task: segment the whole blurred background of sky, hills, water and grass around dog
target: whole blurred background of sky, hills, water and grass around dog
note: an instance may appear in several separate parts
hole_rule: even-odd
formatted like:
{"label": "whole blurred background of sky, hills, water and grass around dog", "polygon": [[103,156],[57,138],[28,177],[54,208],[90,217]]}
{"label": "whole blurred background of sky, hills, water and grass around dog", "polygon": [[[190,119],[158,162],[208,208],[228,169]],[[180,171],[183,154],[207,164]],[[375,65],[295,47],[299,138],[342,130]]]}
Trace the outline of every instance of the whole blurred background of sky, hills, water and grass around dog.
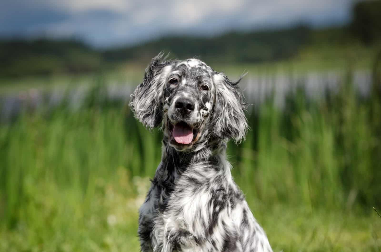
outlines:
{"label": "whole blurred background of sky, hills, water and grass around dog", "polygon": [[274,251],[381,251],[381,1],[2,0],[0,251],[139,251],[160,51],[242,81],[232,174]]}

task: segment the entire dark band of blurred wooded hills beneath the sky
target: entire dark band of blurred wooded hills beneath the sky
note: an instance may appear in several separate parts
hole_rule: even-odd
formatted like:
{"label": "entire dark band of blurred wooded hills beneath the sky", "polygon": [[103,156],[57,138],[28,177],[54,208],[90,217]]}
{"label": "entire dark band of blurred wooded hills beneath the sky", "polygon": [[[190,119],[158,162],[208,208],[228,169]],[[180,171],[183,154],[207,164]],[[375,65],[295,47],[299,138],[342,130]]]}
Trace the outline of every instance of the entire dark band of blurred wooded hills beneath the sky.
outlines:
{"label": "entire dark band of blurred wooded hills beneath the sky", "polygon": [[346,29],[340,27],[312,30],[297,26],[230,32],[211,38],[167,36],[141,45],[105,50],[95,50],[75,40],[8,40],[0,41],[0,77],[97,72],[125,62],[146,64],[163,50],[179,59],[202,56],[202,60],[211,64],[293,59],[308,48],[312,48],[309,58],[320,60],[323,54],[335,60],[341,56],[338,52],[343,45],[349,44],[349,49],[359,46],[348,36]]}

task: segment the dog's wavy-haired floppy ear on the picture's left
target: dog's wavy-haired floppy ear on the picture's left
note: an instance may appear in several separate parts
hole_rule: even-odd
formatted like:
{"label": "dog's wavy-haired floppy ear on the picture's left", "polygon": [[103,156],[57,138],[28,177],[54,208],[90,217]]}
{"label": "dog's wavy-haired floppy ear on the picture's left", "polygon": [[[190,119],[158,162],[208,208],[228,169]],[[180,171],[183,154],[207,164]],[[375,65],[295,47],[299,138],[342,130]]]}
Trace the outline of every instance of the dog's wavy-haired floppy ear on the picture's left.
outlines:
{"label": "dog's wavy-haired floppy ear on the picture's left", "polygon": [[163,92],[172,66],[163,59],[163,53],[154,57],[147,66],[144,80],[131,94],[130,107],[146,128],[157,127],[163,118]]}

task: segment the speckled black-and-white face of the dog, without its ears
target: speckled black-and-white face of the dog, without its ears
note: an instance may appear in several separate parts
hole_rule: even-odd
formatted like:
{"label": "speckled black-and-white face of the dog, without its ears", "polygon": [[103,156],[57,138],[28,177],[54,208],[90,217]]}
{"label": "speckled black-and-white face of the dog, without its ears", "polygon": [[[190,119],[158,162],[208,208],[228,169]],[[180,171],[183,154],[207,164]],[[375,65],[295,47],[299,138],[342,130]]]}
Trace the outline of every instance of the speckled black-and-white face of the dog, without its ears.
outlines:
{"label": "speckled black-and-white face of the dog, without its ears", "polygon": [[213,107],[213,70],[197,59],[171,65],[164,87],[164,134],[177,150],[192,147],[208,132]]}

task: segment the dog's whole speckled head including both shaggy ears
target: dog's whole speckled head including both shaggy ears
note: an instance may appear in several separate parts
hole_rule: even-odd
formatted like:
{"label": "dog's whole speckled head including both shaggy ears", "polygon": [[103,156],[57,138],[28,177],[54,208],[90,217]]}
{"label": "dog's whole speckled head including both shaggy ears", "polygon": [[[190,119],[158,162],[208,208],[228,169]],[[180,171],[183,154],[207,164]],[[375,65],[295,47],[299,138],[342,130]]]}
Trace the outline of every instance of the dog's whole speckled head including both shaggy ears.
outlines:
{"label": "dog's whole speckled head including both shaggy ears", "polygon": [[239,142],[248,125],[239,81],[198,59],[165,61],[159,54],[131,94],[130,106],[147,128],[163,125],[166,142],[189,150],[210,137]]}

